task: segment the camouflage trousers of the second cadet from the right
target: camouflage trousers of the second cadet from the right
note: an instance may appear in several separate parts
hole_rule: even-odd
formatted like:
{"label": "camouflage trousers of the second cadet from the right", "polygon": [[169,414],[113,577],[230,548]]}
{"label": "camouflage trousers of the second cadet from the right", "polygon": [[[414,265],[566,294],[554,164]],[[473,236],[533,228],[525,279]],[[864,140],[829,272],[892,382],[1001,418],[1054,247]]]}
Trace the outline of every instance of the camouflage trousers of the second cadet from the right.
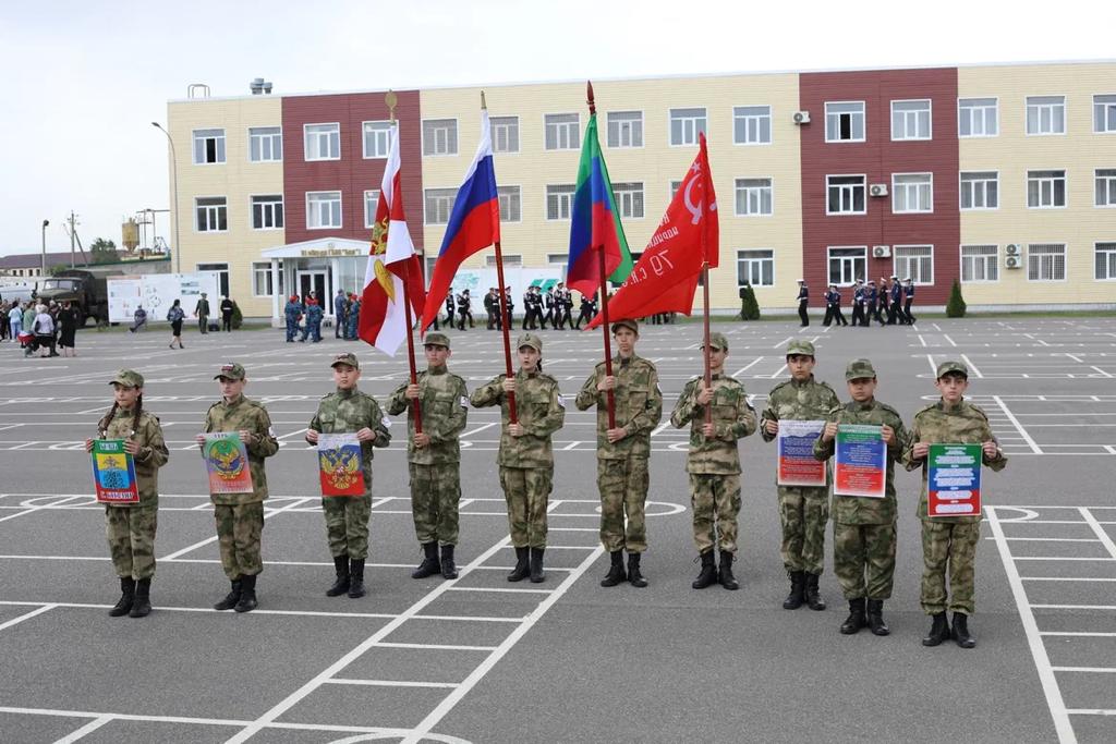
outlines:
{"label": "camouflage trousers of the second cadet from the right", "polygon": [[845,599],[889,599],[895,579],[895,524],[834,522],[834,573]]}

